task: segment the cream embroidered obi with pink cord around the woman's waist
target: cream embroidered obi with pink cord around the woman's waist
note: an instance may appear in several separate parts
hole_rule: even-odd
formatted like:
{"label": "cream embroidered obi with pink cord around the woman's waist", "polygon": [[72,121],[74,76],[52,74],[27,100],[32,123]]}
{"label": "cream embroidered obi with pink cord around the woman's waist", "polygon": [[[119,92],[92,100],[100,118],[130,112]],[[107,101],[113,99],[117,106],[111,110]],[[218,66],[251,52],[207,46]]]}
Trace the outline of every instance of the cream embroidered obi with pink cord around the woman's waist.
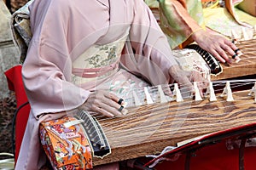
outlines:
{"label": "cream embroidered obi with pink cord around the woman's waist", "polygon": [[114,42],[92,45],[73,61],[72,80],[76,85],[94,83],[111,77],[119,71],[119,58],[128,37],[125,35]]}

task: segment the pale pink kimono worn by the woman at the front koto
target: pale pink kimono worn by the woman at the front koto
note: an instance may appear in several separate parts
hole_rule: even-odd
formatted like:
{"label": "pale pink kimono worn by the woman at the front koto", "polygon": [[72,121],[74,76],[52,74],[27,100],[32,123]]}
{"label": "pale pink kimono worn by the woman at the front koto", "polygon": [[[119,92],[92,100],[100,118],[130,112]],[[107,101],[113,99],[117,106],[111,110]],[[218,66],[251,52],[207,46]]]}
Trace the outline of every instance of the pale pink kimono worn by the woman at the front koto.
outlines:
{"label": "pale pink kimono worn by the woman at the front koto", "polygon": [[[22,75],[32,110],[16,169],[36,170],[45,163],[38,137],[39,122],[75,111],[90,91],[120,70],[125,71],[122,76],[132,75],[129,78],[136,79],[134,74],[154,85],[172,81],[168,70],[177,63],[143,0],[35,0],[30,6],[30,17],[33,37]],[[113,76],[101,81],[73,83],[76,59],[92,46],[118,41],[125,33],[121,53],[113,54],[122,69],[114,67],[117,71]],[[112,64],[115,63],[102,67]],[[96,67],[102,68],[89,69]]]}

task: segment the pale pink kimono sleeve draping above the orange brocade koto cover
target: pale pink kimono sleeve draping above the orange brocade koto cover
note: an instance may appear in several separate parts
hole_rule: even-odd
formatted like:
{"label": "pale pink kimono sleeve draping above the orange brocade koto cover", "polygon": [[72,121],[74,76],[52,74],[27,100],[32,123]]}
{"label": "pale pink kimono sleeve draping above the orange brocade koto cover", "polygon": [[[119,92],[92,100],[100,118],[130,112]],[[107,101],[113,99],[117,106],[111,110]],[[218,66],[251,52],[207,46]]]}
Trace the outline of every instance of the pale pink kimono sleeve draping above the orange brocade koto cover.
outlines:
{"label": "pale pink kimono sleeve draping above the orange brocade koto cover", "polygon": [[67,3],[57,0],[36,0],[32,3],[33,37],[22,76],[36,117],[42,113],[73,110],[82,105],[90,94],[71,82],[67,15]]}

